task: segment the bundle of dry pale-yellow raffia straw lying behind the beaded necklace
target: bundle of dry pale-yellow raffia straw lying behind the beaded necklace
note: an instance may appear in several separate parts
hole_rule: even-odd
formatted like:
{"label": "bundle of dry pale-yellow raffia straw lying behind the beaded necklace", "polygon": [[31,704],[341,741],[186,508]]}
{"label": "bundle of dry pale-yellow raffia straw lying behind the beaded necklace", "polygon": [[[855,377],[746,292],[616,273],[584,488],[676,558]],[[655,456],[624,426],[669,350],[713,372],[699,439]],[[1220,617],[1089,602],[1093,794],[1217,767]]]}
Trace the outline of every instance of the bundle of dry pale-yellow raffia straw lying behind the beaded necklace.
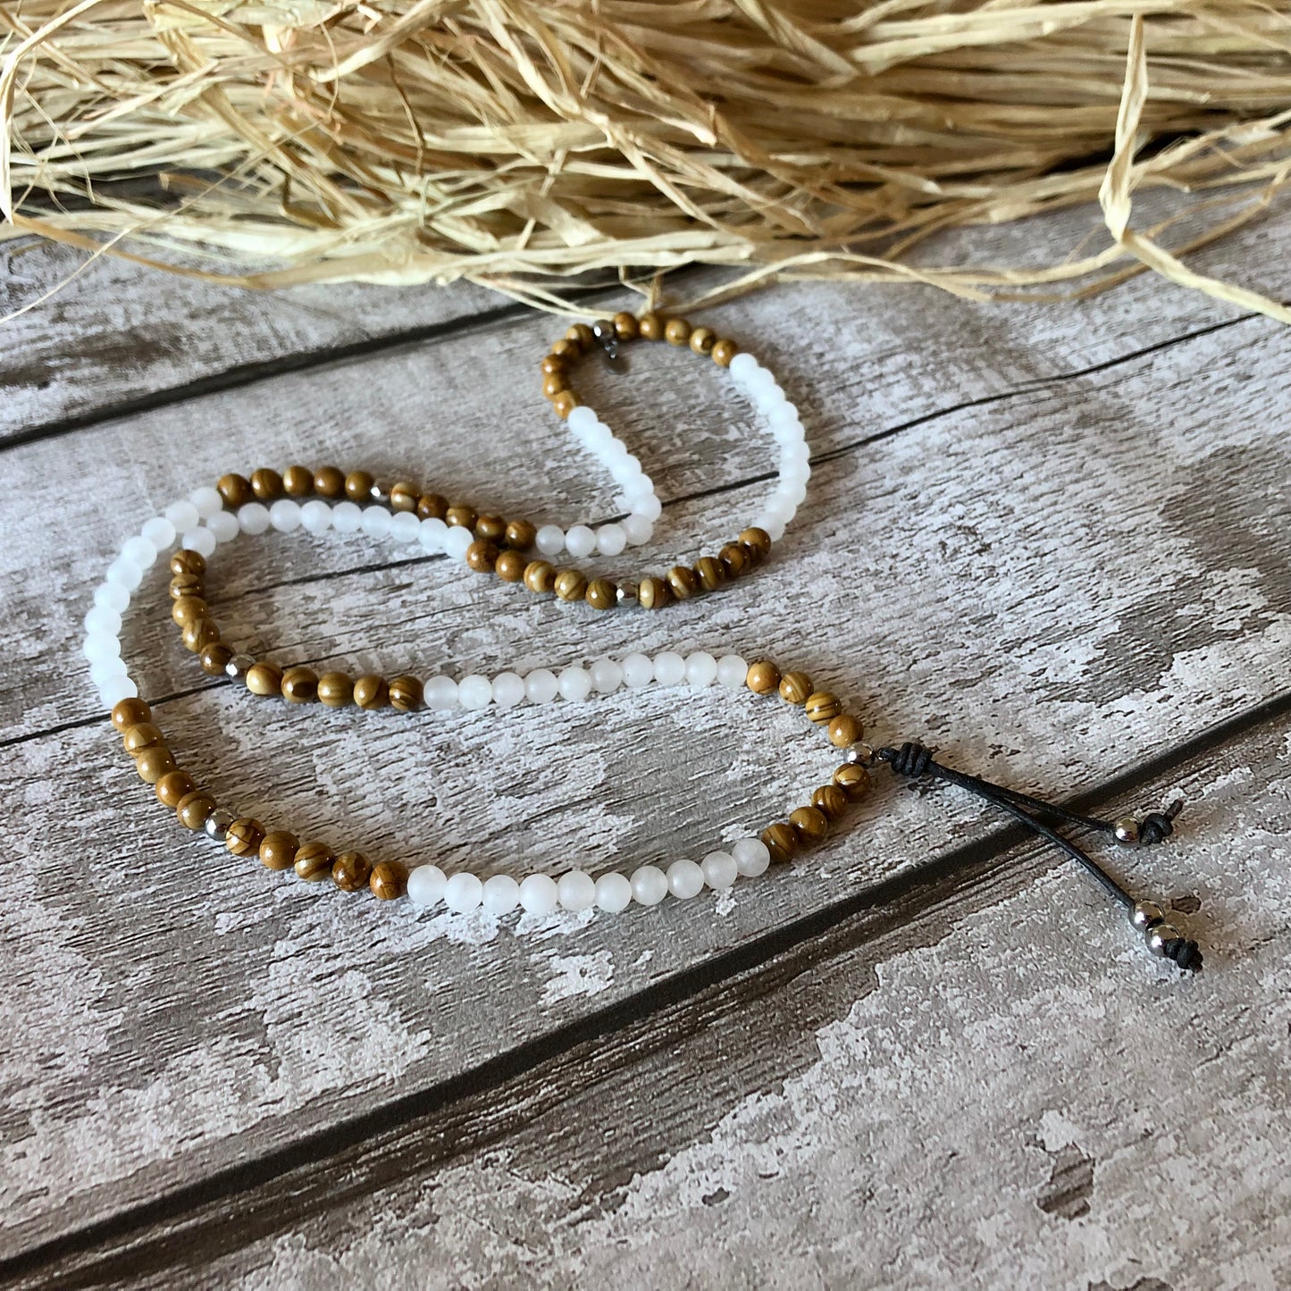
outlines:
{"label": "bundle of dry pale-yellow raffia straw lying behind the beaded necklace", "polygon": [[[736,270],[710,300],[1149,266],[1291,321],[1177,258],[1286,182],[1291,0],[14,0],[0,39],[4,236],[545,307],[695,262]],[[1176,200],[1136,229],[1145,190]],[[1110,236],[1060,263],[913,254],[1096,196]]]}

